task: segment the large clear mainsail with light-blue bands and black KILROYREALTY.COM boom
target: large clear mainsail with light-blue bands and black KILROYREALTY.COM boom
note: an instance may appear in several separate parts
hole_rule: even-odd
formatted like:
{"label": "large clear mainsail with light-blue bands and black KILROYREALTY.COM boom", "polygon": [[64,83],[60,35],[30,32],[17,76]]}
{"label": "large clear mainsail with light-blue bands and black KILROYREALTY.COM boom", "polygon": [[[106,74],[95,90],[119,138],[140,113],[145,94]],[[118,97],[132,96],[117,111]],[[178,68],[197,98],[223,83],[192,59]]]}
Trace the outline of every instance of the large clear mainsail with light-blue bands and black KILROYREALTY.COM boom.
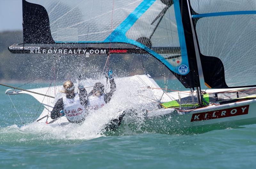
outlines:
{"label": "large clear mainsail with light-blue bands and black KILROYREALTY.COM boom", "polygon": [[200,86],[196,55],[191,26],[184,30],[186,21],[181,7],[179,0],[23,0],[24,44],[9,50],[149,54],[186,88],[194,88]]}

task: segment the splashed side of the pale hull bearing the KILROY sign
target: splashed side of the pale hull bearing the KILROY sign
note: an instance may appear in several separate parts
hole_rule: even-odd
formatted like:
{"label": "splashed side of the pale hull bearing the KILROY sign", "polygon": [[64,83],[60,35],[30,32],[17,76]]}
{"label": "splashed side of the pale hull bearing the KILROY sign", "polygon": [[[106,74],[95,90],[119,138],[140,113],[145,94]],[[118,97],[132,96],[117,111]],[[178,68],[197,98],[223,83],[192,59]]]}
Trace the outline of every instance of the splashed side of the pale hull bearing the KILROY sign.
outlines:
{"label": "splashed side of the pale hull bearing the KILROY sign", "polygon": [[213,129],[255,124],[256,99],[219,106],[213,105],[193,110],[186,114],[170,113],[170,110],[167,108],[164,109],[164,113],[162,112],[160,116],[150,114],[146,123],[146,126],[150,126],[147,130],[160,132],[162,130],[164,133],[200,133]]}

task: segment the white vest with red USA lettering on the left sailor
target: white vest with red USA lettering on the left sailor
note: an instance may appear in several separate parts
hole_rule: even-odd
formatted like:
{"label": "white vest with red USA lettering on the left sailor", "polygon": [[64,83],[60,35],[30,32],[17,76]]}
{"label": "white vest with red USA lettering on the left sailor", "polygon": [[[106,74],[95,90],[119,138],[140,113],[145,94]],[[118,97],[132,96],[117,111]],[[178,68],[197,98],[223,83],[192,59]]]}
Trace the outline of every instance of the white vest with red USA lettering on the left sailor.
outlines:
{"label": "white vest with red USA lettering on the left sailor", "polygon": [[79,95],[76,93],[73,99],[63,97],[64,113],[68,121],[76,122],[84,119],[86,110],[81,105]]}

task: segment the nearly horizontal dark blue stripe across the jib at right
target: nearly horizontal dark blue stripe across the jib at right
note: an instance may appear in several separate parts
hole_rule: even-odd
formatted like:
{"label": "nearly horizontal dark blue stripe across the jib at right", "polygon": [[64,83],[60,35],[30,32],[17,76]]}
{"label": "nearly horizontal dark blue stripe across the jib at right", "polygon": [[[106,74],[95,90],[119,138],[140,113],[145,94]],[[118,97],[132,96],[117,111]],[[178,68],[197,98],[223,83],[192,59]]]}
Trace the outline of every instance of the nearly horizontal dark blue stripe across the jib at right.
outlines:
{"label": "nearly horizontal dark blue stripe across the jib at right", "polygon": [[248,15],[248,14],[256,14],[256,11],[230,11],[230,12],[203,13],[203,14],[192,15],[192,18],[215,17],[215,16],[225,16],[225,15]]}

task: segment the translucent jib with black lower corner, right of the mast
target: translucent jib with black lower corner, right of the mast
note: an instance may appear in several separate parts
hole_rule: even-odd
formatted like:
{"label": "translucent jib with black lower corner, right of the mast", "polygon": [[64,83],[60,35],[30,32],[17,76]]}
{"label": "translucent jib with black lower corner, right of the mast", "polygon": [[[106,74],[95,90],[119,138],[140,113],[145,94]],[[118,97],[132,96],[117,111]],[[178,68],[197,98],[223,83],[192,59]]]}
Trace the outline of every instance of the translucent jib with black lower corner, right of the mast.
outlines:
{"label": "translucent jib with black lower corner, right of the mast", "polygon": [[256,86],[256,1],[187,2],[205,85],[211,88]]}

